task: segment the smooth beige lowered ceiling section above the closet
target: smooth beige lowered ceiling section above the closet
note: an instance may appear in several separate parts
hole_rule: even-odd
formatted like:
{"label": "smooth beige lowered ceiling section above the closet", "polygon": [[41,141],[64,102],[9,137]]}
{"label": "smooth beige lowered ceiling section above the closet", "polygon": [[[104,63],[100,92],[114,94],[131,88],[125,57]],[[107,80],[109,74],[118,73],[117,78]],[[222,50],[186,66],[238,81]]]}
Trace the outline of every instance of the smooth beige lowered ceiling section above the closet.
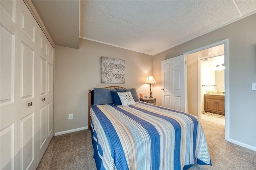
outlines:
{"label": "smooth beige lowered ceiling section above the closet", "polygon": [[31,0],[55,45],[79,48],[79,0]]}

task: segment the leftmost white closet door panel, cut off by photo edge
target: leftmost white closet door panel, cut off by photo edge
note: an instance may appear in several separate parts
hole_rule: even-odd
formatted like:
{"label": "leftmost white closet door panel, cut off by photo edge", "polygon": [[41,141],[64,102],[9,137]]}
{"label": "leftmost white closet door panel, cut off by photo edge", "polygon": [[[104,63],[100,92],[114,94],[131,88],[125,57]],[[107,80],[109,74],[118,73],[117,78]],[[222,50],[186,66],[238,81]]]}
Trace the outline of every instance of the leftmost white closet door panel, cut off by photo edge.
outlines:
{"label": "leftmost white closet door panel, cut off by photo edge", "polygon": [[0,1],[0,169],[17,169],[18,28],[16,2]]}

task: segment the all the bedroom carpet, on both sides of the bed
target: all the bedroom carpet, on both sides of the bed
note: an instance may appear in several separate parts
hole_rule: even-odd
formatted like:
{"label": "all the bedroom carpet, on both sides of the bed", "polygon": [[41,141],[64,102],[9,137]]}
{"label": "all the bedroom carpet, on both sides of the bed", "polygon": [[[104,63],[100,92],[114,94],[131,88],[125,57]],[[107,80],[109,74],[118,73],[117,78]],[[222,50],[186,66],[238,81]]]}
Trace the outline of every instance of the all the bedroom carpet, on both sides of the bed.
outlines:
{"label": "all the bedroom carpet, on both sides of the bed", "polygon": [[[212,166],[189,170],[256,170],[256,152],[225,141],[224,125],[200,119]],[[53,137],[37,170],[96,170],[89,130]]]}

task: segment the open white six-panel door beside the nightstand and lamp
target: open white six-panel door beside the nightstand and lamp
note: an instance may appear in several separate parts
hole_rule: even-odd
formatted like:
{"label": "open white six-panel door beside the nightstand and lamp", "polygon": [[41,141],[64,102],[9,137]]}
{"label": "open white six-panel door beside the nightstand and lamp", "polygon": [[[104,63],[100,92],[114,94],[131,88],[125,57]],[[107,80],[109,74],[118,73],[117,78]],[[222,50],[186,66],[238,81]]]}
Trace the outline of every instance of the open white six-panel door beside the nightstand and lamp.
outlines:
{"label": "open white six-panel door beside the nightstand and lamp", "polygon": [[185,111],[184,55],[162,61],[162,106]]}

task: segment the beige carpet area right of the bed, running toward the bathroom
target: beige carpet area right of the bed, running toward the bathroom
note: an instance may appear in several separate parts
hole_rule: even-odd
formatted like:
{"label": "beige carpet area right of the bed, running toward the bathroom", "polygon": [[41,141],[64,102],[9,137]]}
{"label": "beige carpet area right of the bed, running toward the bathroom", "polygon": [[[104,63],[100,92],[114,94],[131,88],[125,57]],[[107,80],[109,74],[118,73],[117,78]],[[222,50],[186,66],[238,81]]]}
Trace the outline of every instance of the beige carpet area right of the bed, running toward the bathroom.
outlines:
{"label": "beige carpet area right of the bed, running toward the bathroom", "polygon": [[225,126],[200,119],[212,166],[193,165],[189,170],[256,170],[256,152],[225,140]]}

